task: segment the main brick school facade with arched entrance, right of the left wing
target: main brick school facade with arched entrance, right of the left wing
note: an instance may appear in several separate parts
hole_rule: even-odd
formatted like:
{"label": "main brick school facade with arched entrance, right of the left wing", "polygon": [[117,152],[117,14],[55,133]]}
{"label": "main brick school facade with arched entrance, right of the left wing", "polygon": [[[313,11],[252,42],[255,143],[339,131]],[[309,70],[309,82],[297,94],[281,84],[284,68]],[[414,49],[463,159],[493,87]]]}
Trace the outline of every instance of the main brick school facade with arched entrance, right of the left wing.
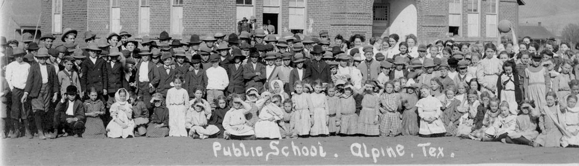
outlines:
{"label": "main brick school facade with arched entrance, right of the left wing", "polygon": [[[50,1],[50,0],[43,0]],[[70,0],[63,0],[70,1]],[[85,0],[86,27],[101,37],[119,31],[173,38],[236,31],[237,21],[255,16],[277,32],[317,35],[416,34],[420,43],[453,38],[496,41],[497,23],[509,20],[517,30],[522,0]],[[291,23],[291,24],[290,24]],[[510,34],[504,34],[510,35]]]}

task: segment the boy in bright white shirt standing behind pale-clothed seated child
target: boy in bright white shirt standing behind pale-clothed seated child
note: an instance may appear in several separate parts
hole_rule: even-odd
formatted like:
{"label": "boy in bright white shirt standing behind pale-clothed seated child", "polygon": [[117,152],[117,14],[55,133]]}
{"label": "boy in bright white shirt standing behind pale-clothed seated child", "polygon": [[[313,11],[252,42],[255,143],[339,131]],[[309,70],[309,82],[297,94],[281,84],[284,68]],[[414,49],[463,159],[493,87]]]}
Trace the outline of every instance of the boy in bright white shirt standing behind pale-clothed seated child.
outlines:
{"label": "boy in bright white shirt standing behind pale-clothed seated child", "polygon": [[229,77],[225,68],[219,66],[219,55],[213,53],[210,56],[212,66],[207,68],[207,101],[211,104],[211,110],[215,109],[215,99],[223,95],[223,91],[229,85]]}

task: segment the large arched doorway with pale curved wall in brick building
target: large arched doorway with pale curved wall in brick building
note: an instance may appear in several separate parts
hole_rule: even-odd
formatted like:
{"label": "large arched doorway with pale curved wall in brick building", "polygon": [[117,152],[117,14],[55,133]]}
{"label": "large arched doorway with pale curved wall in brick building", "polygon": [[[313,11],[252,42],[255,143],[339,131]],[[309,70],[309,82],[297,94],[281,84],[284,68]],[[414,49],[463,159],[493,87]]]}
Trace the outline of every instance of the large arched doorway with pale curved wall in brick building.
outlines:
{"label": "large arched doorway with pale curved wall in brick building", "polygon": [[416,34],[418,15],[415,0],[375,0],[372,7],[372,36]]}

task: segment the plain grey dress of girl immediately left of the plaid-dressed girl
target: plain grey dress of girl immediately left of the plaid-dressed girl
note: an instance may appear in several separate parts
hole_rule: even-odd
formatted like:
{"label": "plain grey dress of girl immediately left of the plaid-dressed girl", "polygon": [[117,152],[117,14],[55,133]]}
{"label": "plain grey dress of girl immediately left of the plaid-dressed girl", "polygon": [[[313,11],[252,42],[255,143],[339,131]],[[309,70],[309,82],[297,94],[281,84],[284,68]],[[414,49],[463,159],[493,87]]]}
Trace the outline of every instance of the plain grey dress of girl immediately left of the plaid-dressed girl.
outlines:
{"label": "plain grey dress of girl immediately left of the plaid-dressed girl", "polygon": [[380,135],[378,125],[374,124],[376,116],[380,114],[378,109],[379,103],[380,100],[378,96],[373,94],[364,95],[360,118],[358,118],[358,133],[364,135]]}

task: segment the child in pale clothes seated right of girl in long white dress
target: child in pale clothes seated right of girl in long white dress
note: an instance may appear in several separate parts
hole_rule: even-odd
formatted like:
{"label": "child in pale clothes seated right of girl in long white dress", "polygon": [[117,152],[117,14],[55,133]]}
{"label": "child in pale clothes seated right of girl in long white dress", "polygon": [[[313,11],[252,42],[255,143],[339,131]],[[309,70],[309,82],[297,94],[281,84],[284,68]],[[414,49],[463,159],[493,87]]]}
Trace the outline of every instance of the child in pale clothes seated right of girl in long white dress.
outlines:
{"label": "child in pale clothes seated right of girl in long white dress", "polygon": [[203,102],[196,99],[187,110],[185,128],[189,129],[189,136],[192,138],[206,139],[219,132],[217,126],[207,124],[207,120],[211,117],[211,107],[209,103]]}

